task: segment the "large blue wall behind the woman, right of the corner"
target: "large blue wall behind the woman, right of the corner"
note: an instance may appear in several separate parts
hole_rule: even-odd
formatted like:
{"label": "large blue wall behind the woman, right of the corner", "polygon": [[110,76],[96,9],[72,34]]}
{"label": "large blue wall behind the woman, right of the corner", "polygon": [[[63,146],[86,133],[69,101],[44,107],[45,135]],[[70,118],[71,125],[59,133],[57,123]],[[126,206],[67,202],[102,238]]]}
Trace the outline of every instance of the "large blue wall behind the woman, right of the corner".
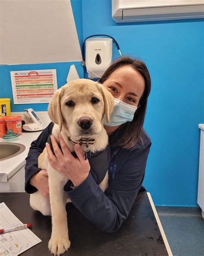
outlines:
{"label": "large blue wall behind the woman, right of the corner", "polygon": [[204,20],[116,24],[111,0],[83,0],[82,14],[83,38],[111,35],[122,54],[141,58],[150,71],[152,90],[144,128],[152,146],[144,186],[156,205],[197,206]]}

